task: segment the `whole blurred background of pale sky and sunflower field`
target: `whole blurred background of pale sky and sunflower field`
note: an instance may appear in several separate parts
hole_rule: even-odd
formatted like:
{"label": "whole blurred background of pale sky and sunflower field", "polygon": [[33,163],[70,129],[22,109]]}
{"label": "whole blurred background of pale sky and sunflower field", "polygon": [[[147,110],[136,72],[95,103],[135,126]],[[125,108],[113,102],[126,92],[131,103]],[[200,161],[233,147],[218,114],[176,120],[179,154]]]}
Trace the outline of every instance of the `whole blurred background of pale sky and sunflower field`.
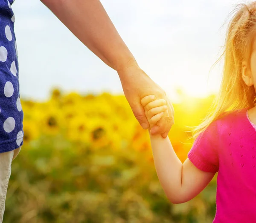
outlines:
{"label": "whole blurred background of pale sky and sunflower field", "polygon": [[[193,143],[188,126],[203,120],[218,92],[222,61],[211,66],[227,15],[244,1],[101,2],[140,67],[172,100],[169,138],[184,162]],[[15,0],[12,9],[24,142],[12,163],[4,222],[212,222],[217,174],[194,199],[171,204],[116,71],[39,0]]]}

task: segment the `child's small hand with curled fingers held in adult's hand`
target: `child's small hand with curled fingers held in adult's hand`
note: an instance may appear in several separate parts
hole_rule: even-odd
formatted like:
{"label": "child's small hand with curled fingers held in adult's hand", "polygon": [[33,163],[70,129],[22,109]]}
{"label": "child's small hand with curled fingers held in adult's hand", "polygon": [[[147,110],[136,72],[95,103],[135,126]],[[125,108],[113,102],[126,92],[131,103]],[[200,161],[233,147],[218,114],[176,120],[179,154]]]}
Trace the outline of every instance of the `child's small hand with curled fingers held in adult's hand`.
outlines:
{"label": "child's small hand with curled fingers held in adult's hand", "polygon": [[164,111],[167,110],[166,100],[155,98],[154,95],[148,95],[141,100],[150,129],[161,119]]}

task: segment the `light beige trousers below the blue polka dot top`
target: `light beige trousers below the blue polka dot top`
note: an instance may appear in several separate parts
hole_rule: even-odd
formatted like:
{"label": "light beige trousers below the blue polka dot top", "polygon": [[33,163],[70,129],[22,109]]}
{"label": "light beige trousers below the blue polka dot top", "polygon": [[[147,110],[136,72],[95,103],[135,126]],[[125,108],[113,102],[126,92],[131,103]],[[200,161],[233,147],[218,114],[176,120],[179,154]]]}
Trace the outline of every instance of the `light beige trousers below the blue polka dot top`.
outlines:
{"label": "light beige trousers below the blue polka dot top", "polygon": [[3,222],[6,192],[12,171],[12,160],[19,154],[21,146],[9,152],[0,153],[0,223]]}

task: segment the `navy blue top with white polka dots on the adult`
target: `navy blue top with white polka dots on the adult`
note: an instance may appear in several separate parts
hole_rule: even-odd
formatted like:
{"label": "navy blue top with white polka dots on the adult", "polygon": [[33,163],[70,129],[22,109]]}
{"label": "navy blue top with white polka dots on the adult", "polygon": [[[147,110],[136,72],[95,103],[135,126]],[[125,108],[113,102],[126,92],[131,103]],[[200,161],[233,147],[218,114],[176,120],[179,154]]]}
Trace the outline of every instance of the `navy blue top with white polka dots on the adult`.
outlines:
{"label": "navy blue top with white polka dots on the adult", "polygon": [[0,0],[0,153],[23,145],[14,0]]}

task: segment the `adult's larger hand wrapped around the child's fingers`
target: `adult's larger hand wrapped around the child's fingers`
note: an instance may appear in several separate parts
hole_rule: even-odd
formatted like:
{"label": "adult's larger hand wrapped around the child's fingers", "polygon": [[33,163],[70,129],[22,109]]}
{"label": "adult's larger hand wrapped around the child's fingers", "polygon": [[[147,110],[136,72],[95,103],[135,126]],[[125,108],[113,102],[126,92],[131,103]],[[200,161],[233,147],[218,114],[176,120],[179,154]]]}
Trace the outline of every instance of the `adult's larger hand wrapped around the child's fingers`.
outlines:
{"label": "adult's larger hand wrapped around the child's fingers", "polygon": [[147,95],[154,94],[157,99],[162,98],[166,100],[168,110],[150,131],[152,135],[160,133],[162,137],[166,138],[174,124],[174,108],[165,91],[140,69],[135,60],[129,61],[129,64],[122,69],[118,69],[117,72],[125,97],[143,129],[148,129],[149,123],[145,117],[143,106],[140,103],[141,99]]}

